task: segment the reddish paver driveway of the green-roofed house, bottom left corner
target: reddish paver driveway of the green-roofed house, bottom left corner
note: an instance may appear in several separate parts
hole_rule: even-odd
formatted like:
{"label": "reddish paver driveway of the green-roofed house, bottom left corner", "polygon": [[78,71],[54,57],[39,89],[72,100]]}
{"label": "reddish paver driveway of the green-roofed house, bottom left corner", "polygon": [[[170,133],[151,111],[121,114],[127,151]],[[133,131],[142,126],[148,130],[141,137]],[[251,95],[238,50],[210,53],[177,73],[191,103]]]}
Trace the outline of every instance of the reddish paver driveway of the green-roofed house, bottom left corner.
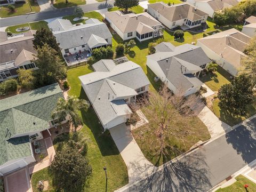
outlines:
{"label": "reddish paver driveway of the green-roofed house, bottom left corner", "polygon": [[28,167],[4,176],[5,192],[32,192]]}

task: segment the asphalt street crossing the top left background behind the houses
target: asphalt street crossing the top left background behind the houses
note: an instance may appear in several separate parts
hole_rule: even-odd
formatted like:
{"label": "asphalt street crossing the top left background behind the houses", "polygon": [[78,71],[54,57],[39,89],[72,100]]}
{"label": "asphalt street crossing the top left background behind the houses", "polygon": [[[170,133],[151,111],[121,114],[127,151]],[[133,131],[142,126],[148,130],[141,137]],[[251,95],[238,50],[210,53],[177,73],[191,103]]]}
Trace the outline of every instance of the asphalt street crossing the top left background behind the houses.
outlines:
{"label": "asphalt street crossing the top left background behind the houses", "polygon": [[[85,5],[81,5],[79,7],[81,7],[84,12],[89,12],[89,11],[105,9],[105,8],[113,7],[113,6],[114,6],[114,0],[105,1],[105,2],[101,2],[101,3],[85,4]],[[1,18],[0,19],[0,27],[13,26],[13,25],[21,24],[21,23],[63,17],[66,15],[73,15],[74,10],[75,10],[75,7],[68,7],[68,8],[63,8],[63,9],[57,9],[54,11],[46,11],[46,12],[32,13],[32,14],[26,14],[26,15],[19,15],[19,16],[9,17],[9,18]]]}

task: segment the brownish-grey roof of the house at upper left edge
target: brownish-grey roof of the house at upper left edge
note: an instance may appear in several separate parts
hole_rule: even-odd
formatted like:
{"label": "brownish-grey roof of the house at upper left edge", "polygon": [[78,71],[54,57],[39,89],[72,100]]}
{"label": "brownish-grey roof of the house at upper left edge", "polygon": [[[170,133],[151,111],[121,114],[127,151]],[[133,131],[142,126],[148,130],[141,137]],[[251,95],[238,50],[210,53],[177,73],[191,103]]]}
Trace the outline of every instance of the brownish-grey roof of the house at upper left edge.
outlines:
{"label": "brownish-grey roof of the house at upper left edge", "polygon": [[33,47],[33,33],[27,32],[0,43],[0,63],[14,61],[22,50],[36,54]]}

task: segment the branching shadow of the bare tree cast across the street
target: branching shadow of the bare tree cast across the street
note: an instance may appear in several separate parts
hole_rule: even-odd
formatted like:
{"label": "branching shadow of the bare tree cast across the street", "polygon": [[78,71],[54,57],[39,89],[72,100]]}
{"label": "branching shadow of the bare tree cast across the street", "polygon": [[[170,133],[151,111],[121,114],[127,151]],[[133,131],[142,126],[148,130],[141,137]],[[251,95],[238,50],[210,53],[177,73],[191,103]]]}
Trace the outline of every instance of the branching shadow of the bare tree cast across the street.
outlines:
{"label": "branching shadow of the bare tree cast across the street", "polygon": [[[148,167],[136,166],[135,169],[147,174]],[[211,172],[205,156],[198,151],[174,163],[166,163],[163,169],[156,167],[154,171],[154,174],[147,174],[146,179],[132,186],[129,191],[207,191],[212,188],[209,180]]]}

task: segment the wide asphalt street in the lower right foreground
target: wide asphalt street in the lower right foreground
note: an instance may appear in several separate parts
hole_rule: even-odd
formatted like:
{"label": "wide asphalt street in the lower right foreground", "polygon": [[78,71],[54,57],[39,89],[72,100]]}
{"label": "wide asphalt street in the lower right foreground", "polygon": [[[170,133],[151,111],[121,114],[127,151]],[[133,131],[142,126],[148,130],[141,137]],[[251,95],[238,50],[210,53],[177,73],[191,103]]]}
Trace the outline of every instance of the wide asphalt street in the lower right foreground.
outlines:
{"label": "wide asphalt street in the lower right foreground", "polygon": [[205,192],[254,159],[256,117],[124,191]]}

